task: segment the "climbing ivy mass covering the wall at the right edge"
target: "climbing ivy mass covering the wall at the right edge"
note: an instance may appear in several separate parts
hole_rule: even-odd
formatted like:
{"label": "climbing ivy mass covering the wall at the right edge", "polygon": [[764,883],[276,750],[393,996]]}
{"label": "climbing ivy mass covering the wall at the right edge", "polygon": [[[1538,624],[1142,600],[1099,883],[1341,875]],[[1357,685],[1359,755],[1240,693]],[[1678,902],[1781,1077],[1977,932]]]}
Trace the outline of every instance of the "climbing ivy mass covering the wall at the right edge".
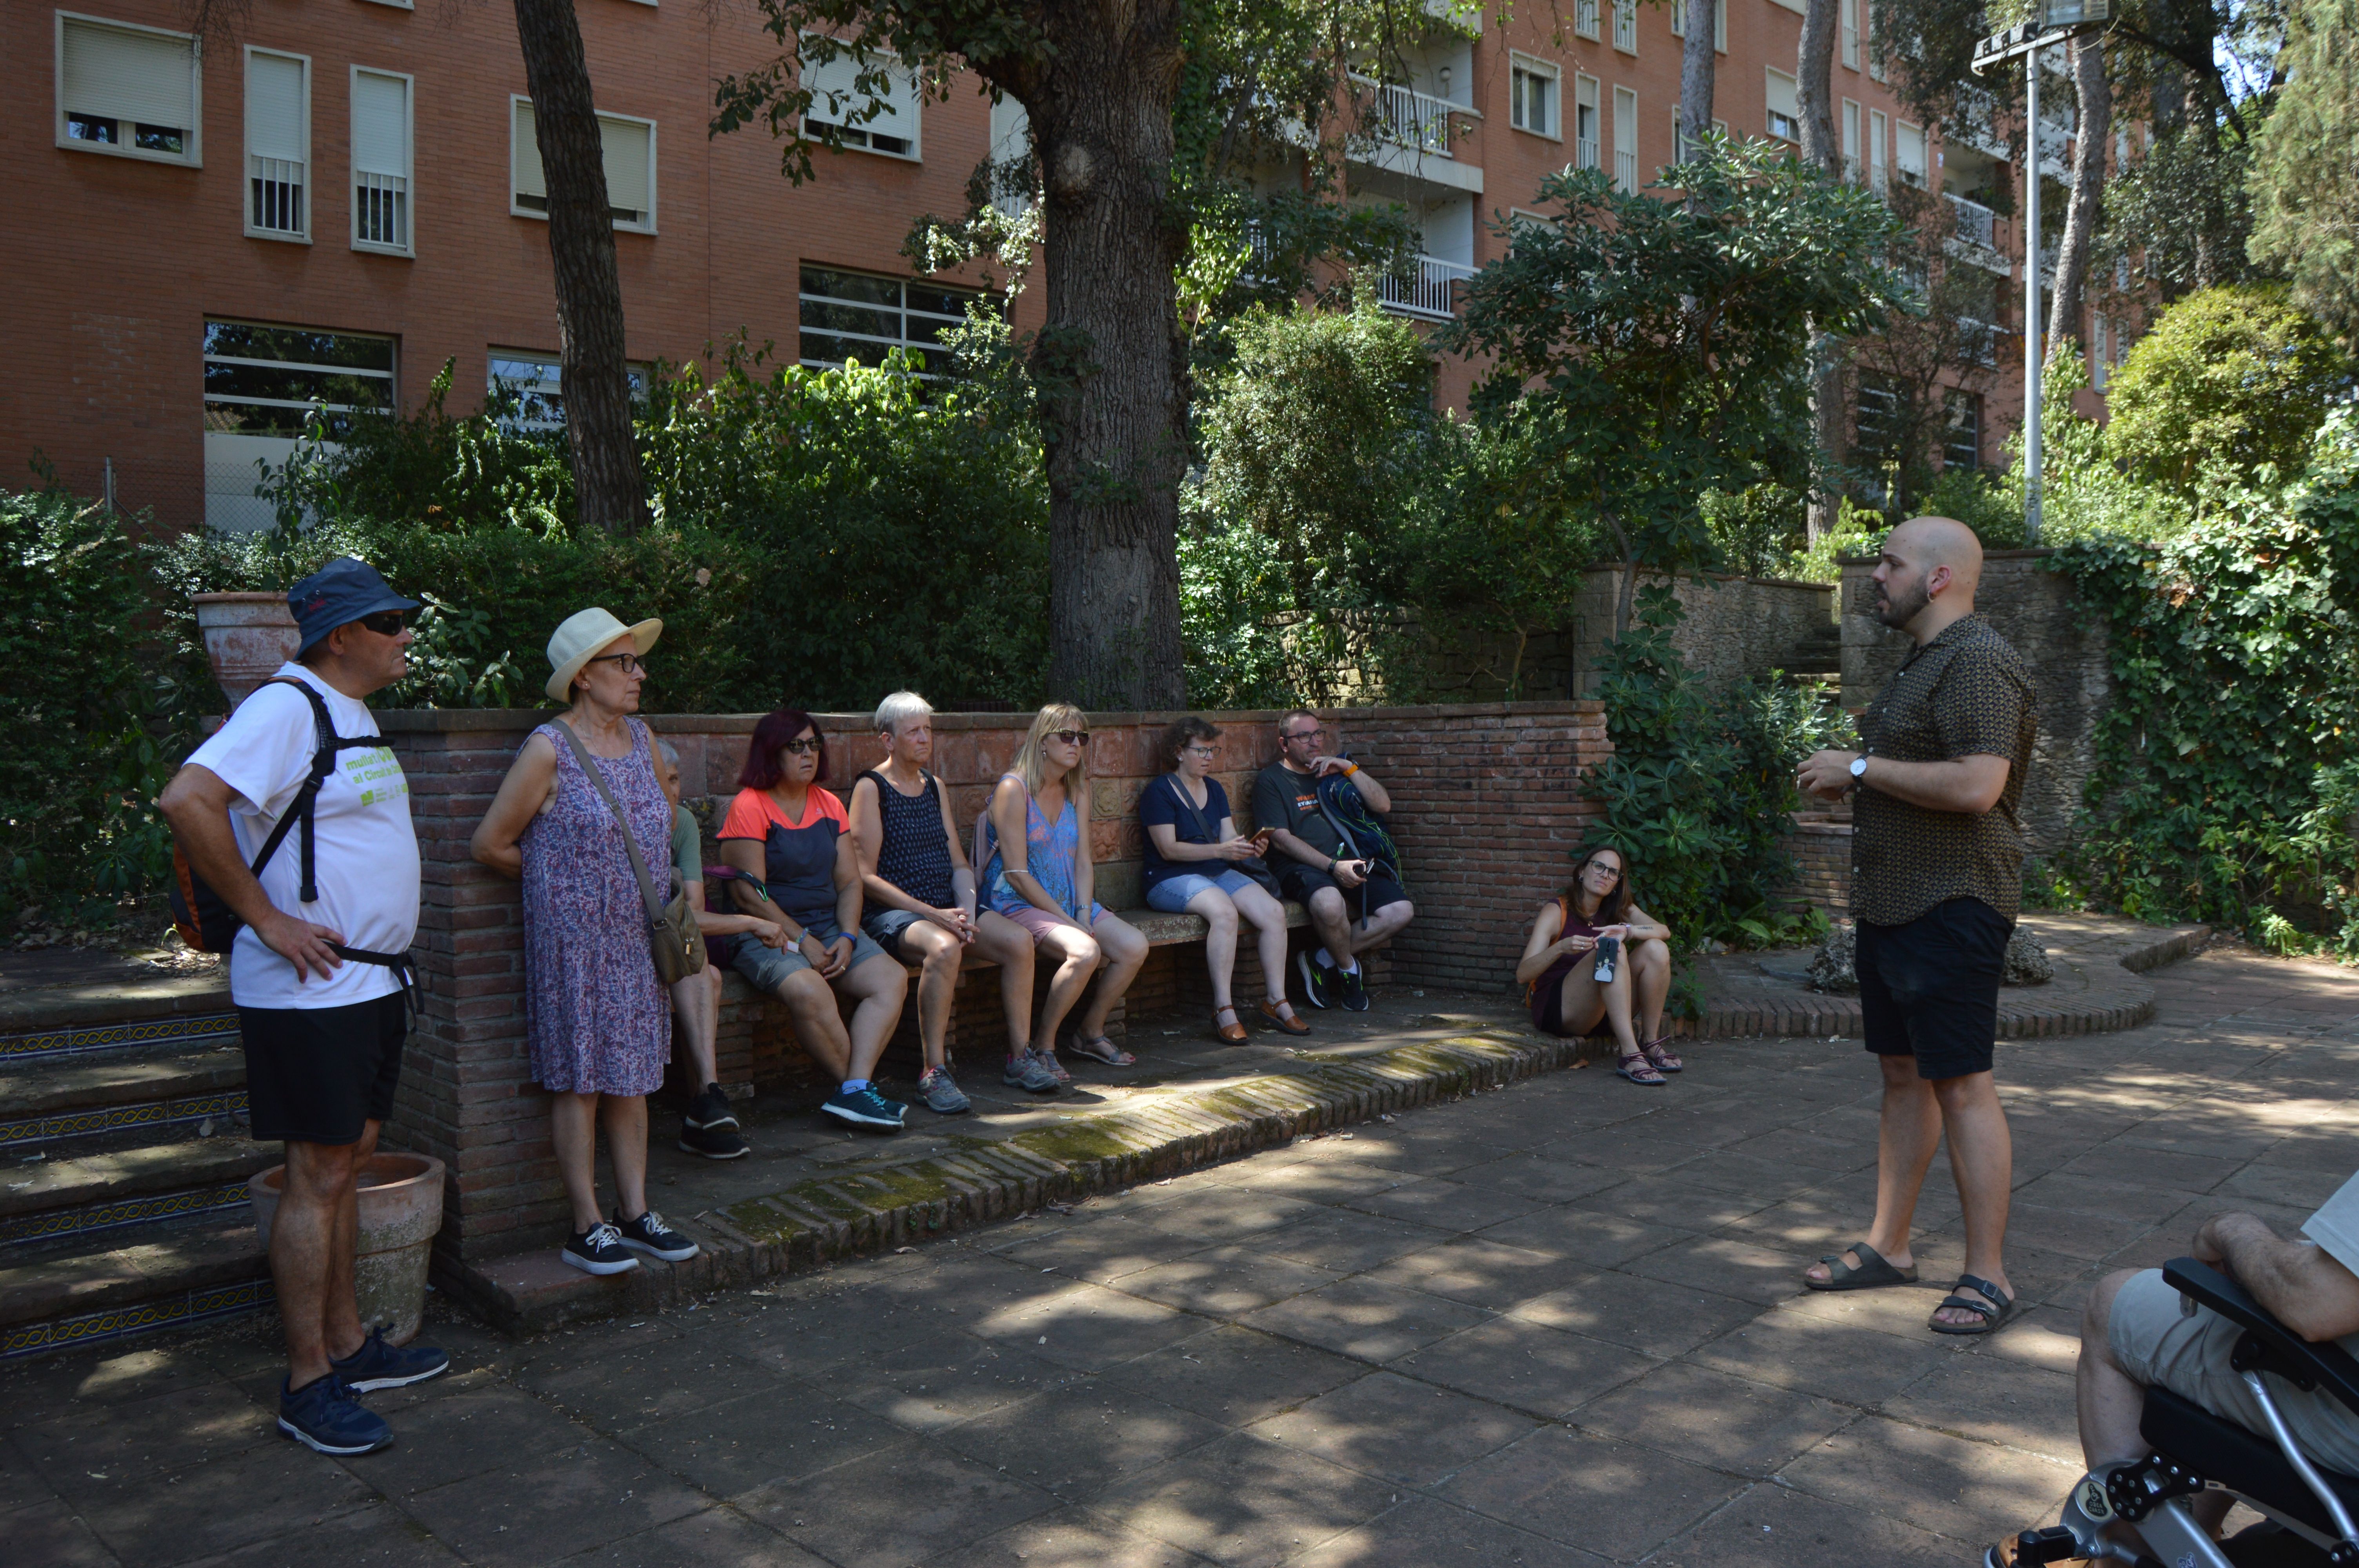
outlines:
{"label": "climbing ivy mass covering the wall at the right edge", "polygon": [[2083,540],[2057,564],[2107,618],[2116,679],[2071,882],[2140,920],[2359,955],[2352,410],[2298,483],[2215,490],[2156,547]]}

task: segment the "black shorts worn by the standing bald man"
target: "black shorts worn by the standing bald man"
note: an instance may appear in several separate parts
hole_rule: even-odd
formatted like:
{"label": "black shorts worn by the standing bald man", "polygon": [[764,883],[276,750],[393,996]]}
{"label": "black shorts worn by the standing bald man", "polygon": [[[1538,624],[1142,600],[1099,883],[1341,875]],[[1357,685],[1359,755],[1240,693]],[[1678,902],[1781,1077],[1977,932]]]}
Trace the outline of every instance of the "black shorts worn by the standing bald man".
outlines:
{"label": "black shorts worn by the standing bald man", "polygon": [[1878,1056],[1918,1078],[1991,1070],[1998,981],[2015,924],[1982,898],[1949,898],[1904,927],[1859,922],[1859,1016]]}

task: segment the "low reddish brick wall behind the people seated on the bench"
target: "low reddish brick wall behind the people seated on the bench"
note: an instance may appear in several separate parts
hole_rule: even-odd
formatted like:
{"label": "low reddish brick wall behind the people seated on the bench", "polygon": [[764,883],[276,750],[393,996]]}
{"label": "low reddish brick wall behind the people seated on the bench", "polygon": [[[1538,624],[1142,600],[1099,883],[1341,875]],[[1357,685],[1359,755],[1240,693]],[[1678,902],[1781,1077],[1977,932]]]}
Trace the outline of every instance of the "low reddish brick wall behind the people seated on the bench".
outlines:
{"label": "low reddish brick wall behind the people seated on the bench", "polygon": [[[387,1144],[434,1153],[451,1165],[448,1214],[439,1240],[446,1264],[498,1257],[545,1243],[564,1221],[564,1195],[547,1141],[547,1096],[524,1059],[521,908],[517,884],[477,865],[467,839],[491,804],[535,712],[385,712],[387,743],[401,755],[425,858],[418,929],[425,1009],[401,1082]],[[679,747],[684,795],[708,830],[736,792],[736,773],[760,714],[653,714],[656,733]],[[1135,804],[1156,773],[1156,733],[1172,714],[1095,714],[1090,740],[1092,854],[1099,901],[1137,903],[1139,825]],[[1238,825],[1250,828],[1250,778],[1274,755],[1276,712],[1210,714],[1224,736],[1217,778]],[[953,813],[972,825],[993,780],[1014,759],[1029,717],[937,714],[934,766]],[[1491,703],[1463,707],[1361,707],[1330,719],[1394,797],[1418,920],[1378,981],[1498,990],[1510,983],[1524,924],[1564,879],[1595,804],[1578,797],[1578,773],[1609,755],[1597,703]],[[828,783],[880,759],[866,714],[821,714]],[[1297,934],[1300,941],[1300,934]],[[1238,995],[1255,995],[1250,948],[1238,955]],[[960,986],[960,1028],[998,1037],[995,974]],[[1130,995],[1132,1016],[1196,1004],[1201,948],[1161,948]],[[915,1007],[906,1012],[913,1023]],[[724,1007],[722,1075],[781,1089],[809,1073],[783,1009],[731,981]]]}

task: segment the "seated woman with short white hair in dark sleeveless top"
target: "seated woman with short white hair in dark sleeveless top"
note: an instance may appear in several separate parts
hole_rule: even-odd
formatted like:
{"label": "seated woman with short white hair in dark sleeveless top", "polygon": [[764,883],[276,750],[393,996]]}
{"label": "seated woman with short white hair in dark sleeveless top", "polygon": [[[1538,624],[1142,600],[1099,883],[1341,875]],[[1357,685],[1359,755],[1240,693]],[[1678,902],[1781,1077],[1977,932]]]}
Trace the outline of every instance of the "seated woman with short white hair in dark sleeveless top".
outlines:
{"label": "seated woman with short white hair in dark sleeveless top", "polygon": [[[1010,1061],[1031,1045],[1033,941],[1017,922],[977,913],[974,868],[951,821],[951,797],[927,771],[934,759],[934,710],[913,691],[896,691],[878,707],[885,762],[852,780],[852,846],[861,863],[861,929],[903,964],[918,964],[918,1040],[925,1078],[918,1096],[929,1111],[967,1108],[951,1078],[948,1028],[958,969],[972,950],[1000,967],[1000,1007],[1007,1014]],[[1047,1073],[1010,1066],[1007,1082],[1054,1094]]]}

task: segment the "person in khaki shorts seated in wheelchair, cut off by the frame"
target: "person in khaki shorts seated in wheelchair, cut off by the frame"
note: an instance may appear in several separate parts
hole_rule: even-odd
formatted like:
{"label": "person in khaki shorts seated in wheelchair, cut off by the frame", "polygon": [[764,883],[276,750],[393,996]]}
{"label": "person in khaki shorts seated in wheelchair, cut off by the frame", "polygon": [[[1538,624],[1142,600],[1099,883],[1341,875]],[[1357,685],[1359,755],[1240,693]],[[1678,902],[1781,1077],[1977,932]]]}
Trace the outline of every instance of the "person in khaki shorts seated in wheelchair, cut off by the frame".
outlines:
{"label": "person in khaki shorts seated in wheelchair, cut off by the frame", "polygon": [[[2302,1339],[2338,1339],[2345,1351],[2359,1353],[2359,1177],[2302,1221],[2302,1236],[2307,1240],[2284,1240],[2258,1214],[2215,1214],[2196,1228],[2189,1252],[2232,1273]],[[2241,1337],[2241,1327],[2213,1311],[2182,1311],[2180,1292],[2163,1283],[2161,1269],[2123,1269],[2097,1280],[2081,1313],[2076,1372],[2088,1467],[2104,1471],[2154,1452],[2137,1431],[2151,1384],[2267,1441],[2269,1417],[2229,1365]],[[2269,1398],[2309,1460],[2359,1476],[2359,1417],[2342,1401],[2284,1379],[2272,1379]],[[2189,1502],[2196,1521],[2215,1535],[2227,1509],[2227,1493]],[[2012,1561],[2012,1554],[2000,1549],[1998,1561]]]}

